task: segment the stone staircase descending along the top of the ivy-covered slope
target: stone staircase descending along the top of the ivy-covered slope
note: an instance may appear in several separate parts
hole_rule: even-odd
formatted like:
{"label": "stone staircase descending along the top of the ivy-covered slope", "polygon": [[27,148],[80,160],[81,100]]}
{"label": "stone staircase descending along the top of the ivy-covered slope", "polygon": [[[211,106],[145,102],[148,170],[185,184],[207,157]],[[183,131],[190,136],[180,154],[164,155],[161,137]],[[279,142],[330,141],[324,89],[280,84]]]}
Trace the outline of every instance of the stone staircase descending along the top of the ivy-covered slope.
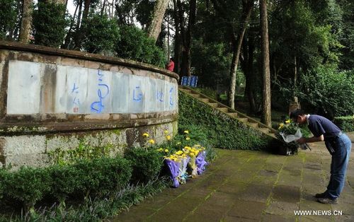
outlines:
{"label": "stone staircase descending along the top of the ivy-covered slope", "polygon": [[217,100],[214,100],[208,97],[207,95],[199,93],[198,91],[195,91],[192,88],[186,86],[179,86],[179,90],[183,93],[187,93],[188,95],[193,96],[194,98],[200,100],[202,103],[210,105],[211,107],[219,110],[220,112],[226,113],[234,119],[244,122],[244,124],[248,125],[249,127],[252,127],[253,129],[256,129],[258,132],[261,132],[263,134],[266,134],[267,136],[271,136],[277,139],[277,137],[275,136],[275,133],[277,131],[273,128],[267,127],[265,124],[259,122],[258,120],[244,115],[243,113],[234,110],[231,107],[228,107],[227,105],[219,103],[217,102]]}

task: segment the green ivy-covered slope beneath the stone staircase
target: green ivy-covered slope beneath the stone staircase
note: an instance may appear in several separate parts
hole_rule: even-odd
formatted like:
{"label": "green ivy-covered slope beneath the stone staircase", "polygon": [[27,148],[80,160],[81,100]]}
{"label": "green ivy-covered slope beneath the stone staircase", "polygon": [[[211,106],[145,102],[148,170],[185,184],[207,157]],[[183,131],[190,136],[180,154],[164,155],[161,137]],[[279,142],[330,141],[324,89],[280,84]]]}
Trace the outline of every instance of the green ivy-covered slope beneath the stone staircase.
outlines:
{"label": "green ivy-covered slope beneath the stone staircase", "polygon": [[207,132],[208,143],[218,148],[264,150],[273,146],[273,139],[246,124],[212,109],[209,105],[179,92],[179,122],[200,125]]}

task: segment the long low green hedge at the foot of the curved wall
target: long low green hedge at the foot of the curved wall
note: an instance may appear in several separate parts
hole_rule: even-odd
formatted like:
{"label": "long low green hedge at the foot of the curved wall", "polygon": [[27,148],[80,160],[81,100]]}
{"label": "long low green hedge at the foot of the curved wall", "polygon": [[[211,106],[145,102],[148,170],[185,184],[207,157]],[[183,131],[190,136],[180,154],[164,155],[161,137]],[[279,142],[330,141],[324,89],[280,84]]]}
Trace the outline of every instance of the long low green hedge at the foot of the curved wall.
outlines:
{"label": "long low green hedge at the foot of the curved wall", "polygon": [[14,172],[0,170],[0,202],[1,197],[17,200],[28,211],[44,197],[63,202],[71,194],[87,197],[122,189],[131,175],[130,161],[120,157],[80,160],[73,165],[48,168],[22,167]]}

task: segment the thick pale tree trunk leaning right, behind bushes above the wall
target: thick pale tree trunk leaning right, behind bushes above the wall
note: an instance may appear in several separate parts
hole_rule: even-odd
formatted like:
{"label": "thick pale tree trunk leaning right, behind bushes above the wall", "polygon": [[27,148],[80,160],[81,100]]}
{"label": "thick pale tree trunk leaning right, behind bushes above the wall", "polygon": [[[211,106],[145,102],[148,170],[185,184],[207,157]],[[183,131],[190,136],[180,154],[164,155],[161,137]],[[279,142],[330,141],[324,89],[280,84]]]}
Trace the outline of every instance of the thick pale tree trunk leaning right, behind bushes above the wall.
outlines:
{"label": "thick pale tree trunk leaning right, behind bushes above the wall", "polygon": [[149,30],[147,32],[147,35],[152,37],[155,42],[161,33],[161,23],[164,20],[164,15],[168,5],[169,0],[156,0],[153,14],[154,18],[152,18],[152,24],[149,26]]}

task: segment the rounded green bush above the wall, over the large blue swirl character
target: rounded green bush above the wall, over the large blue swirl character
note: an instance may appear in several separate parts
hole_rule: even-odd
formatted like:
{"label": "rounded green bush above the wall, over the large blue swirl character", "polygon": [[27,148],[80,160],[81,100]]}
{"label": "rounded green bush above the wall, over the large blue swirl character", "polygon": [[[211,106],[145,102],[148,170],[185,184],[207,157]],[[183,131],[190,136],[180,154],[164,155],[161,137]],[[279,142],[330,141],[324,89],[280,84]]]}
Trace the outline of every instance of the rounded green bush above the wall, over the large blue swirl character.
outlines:
{"label": "rounded green bush above the wall, over the large blue swirl character", "polygon": [[84,24],[84,30],[86,36],[83,47],[87,52],[113,51],[115,42],[119,41],[118,25],[107,16],[91,13]]}

